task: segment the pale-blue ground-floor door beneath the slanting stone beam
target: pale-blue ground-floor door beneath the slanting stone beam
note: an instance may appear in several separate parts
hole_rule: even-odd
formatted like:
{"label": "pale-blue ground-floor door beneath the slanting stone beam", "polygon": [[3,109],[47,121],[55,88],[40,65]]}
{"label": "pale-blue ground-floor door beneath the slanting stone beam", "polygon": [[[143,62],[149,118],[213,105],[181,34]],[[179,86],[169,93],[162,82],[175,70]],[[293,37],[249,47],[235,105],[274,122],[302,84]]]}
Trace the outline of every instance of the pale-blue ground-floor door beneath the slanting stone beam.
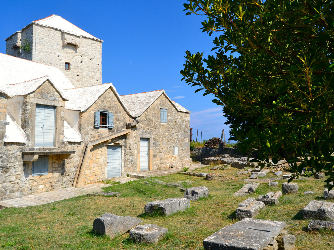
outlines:
{"label": "pale-blue ground-floor door beneath the slanting stone beam", "polygon": [[108,146],[107,155],[107,178],[121,176],[121,146]]}

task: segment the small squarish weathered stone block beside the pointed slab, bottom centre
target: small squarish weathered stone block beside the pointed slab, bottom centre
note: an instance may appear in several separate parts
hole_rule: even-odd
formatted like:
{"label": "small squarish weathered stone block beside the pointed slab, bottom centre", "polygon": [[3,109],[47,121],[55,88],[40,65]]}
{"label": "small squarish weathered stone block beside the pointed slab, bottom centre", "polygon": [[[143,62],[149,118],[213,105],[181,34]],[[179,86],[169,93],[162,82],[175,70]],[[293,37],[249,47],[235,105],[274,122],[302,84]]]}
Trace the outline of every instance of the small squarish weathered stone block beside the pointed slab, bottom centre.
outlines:
{"label": "small squarish weathered stone block beside the pointed slab, bottom centre", "polygon": [[157,244],[168,233],[168,229],[155,224],[139,225],[130,231],[130,238],[136,243]]}

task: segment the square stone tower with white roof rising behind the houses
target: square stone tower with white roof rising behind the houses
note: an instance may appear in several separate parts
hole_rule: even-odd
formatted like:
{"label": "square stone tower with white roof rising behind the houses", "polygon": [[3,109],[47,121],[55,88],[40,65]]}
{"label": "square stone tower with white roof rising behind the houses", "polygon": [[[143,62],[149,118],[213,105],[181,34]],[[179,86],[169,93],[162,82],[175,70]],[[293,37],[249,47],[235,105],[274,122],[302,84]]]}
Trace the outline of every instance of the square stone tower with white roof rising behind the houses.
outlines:
{"label": "square stone tower with white roof rising behind the houses", "polygon": [[102,84],[102,40],[57,15],[5,39],[6,54],[60,69],[75,87]]}

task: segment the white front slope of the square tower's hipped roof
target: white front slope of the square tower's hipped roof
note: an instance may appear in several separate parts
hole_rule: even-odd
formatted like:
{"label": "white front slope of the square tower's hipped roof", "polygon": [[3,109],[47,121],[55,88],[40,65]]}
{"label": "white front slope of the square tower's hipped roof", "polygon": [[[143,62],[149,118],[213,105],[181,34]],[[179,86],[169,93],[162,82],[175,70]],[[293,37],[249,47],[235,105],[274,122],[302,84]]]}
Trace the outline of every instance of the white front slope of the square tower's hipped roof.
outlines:
{"label": "white front slope of the square tower's hipped roof", "polygon": [[61,16],[51,15],[43,19],[35,20],[32,23],[59,29],[61,31],[65,31],[67,33],[74,34],[77,36],[84,36],[84,37],[102,41],[101,39],[95,36],[92,36],[90,33],[87,33],[86,31],[80,29],[79,27],[65,20]]}

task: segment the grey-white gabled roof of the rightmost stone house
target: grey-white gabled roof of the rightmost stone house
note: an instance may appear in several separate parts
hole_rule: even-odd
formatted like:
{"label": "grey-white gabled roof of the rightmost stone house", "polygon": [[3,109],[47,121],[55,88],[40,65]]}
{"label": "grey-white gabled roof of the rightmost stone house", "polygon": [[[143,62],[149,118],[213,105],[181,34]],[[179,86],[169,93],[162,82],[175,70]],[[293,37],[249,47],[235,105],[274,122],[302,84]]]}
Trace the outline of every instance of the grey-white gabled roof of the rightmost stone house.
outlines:
{"label": "grey-white gabled roof of the rightmost stone house", "polygon": [[132,95],[121,96],[122,101],[128,107],[134,117],[141,116],[161,95],[172,103],[177,111],[190,113],[189,110],[169,99],[164,90],[156,90]]}

